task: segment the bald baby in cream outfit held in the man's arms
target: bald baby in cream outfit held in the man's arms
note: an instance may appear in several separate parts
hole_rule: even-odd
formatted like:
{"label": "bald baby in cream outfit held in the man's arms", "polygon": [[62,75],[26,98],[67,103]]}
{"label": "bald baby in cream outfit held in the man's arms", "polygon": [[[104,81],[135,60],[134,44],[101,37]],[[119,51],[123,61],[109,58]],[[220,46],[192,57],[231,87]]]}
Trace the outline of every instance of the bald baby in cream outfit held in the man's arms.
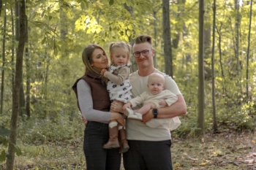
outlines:
{"label": "bald baby in cream outfit held in the man's arms", "polygon": [[[178,98],[175,94],[171,93],[170,90],[165,89],[165,77],[159,73],[153,73],[148,76],[148,90],[140,96],[132,98],[124,104],[123,109],[129,112],[124,112],[129,119],[142,120],[142,115],[146,114],[150,109],[157,109],[161,107],[170,106],[175,103]],[[140,109],[132,111],[131,107],[136,107],[138,104],[143,104]],[[129,109],[128,109],[129,108]],[[178,117],[173,117],[174,123],[181,124]],[[170,119],[152,119],[146,123],[151,128],[157,128],[159,125],[171,123]],[[168,125],[170,128],[170,125]],[[178,126],[177,126],[178,127]],[[176,128],[177,128],[176,127]],[[173,130],[173,127],[171,128]]]}

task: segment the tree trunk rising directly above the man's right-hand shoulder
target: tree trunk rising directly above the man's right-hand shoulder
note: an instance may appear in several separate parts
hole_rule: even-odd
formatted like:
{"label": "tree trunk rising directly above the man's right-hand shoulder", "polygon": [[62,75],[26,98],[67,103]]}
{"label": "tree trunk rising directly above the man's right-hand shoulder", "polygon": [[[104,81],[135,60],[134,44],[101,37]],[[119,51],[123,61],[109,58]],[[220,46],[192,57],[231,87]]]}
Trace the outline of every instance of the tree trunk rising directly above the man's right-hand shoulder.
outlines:
{"label": "tree trunk rising directly above the man's right-hand shoulder", "polygon": [[173,77],[173,55],[170,42],[170,4],[169,0],[162,0],[162,36],[164,39],[165,73]]}

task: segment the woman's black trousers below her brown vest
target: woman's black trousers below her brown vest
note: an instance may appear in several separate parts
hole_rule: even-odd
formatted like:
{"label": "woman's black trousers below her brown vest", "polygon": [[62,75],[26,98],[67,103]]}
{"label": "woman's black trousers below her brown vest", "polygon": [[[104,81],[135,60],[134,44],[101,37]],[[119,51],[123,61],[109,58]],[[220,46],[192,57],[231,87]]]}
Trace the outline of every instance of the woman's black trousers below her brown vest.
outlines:
{"label": "woman's black trousers below her brown vest", "polygon": [[118,149],[105,150],[108,142],[108,124],[89,121],[84,131],[83,151],[87,170],[119,170],[121,154]]}

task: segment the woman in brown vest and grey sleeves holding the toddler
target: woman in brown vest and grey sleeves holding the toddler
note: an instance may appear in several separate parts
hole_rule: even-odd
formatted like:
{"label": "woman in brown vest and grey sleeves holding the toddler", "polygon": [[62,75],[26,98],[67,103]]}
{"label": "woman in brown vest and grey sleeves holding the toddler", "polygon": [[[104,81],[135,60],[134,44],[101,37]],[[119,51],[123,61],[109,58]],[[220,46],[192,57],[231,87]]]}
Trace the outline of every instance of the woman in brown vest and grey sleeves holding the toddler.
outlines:
{"label": "woman in brown vest and grey sleeves holding the toddler", "polygon": [[99,45],[88,45],[83,50],[82,58],[86,74],[72,88],[78,98],[78,108],[88,121],[83,141],[87,170],[120,169],[121,154],[118,154],[118,149],[102,148],[108,142],[110,120],[117,120],[124,125],[124,117],[118,112],[109,112],[111,102],[107,90],[108,79],[100,74],[102,69],[108,68],[108,57]]}

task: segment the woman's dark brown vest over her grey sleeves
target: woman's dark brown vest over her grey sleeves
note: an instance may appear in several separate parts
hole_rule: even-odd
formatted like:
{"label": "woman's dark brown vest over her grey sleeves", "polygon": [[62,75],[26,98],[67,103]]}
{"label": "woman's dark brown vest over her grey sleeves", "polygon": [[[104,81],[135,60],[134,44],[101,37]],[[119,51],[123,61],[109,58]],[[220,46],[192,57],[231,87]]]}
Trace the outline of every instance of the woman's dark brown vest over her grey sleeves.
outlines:
{"label": "woman's dark brown vest over her grey sleeves", "polygon": [[[110,111],[110,97],[107,90],[107,85],[94,73],[87,71],[83,77],[76,80],[72,89],[75,91],[75,95],[78,98],[77,84],[79,80],[85,80],[91,87],[91,97],[93,100],[93,109],[108,112]],[[80,106],[78,104],[78,109]]]}

